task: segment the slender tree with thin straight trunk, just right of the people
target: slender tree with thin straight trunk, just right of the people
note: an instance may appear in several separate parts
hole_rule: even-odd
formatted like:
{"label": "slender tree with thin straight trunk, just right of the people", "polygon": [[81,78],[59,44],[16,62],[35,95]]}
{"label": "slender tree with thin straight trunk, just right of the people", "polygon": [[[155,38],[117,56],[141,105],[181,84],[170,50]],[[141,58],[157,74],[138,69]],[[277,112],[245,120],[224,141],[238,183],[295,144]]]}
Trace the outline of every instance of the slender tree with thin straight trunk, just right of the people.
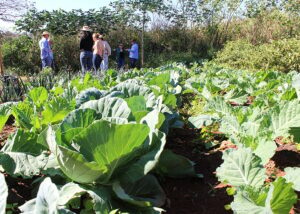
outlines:
{"label": "slender tree with thin straight trunk, just right of the people", "polygon": [[161,14],[167,10],[169,0],[119,0],[111,4],[117,13],[123,13],[124,10],[131,15],[132,23],[136,22],[141,26],[141,65],[144,65],[144,37],[146,24],[151,20],[149,13]]}

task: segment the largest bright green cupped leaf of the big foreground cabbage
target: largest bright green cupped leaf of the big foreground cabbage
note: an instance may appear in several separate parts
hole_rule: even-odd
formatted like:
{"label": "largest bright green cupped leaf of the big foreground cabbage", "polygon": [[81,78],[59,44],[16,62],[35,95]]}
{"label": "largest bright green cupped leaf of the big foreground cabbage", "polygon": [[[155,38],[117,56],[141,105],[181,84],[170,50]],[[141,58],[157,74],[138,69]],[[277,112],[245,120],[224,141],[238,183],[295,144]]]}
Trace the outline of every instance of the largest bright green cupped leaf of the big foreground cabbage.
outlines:
{"label": "largest bright green cupped leaf of the big foreground cabbage", "polygon": [[[99,178],[100,183],[106,183],[113,174],[141,155],[139,150],[148,134],[146,125],[97,121],[76,135],[72,145],[57,147],[58,162],[63,172],[74,181],[91,183]],[[47,142],[56,144],[50,131]]]}

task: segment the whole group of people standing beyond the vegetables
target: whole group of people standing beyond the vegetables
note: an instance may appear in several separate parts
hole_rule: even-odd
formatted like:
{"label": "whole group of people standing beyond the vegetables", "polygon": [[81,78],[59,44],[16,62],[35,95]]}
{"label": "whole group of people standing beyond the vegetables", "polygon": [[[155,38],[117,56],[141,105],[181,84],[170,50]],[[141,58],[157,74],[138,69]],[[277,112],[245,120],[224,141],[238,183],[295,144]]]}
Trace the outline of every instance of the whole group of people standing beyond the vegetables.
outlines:
{"label": "whole group of people standing beyond the vegetables", "polygon": [[[41,49],[42,67],[53,67],[54,57],[52,52],[52,41],[49,32],[42,33],[39,42]],[[112,54],[109,43],[99,33],[92,33],[88,26],[83,26],[80,31],[80,64],[83,73],[94,70],[95,74],[108,69],[108,59]],[[124,49],[123,44],[115,49],[118,69],[124,69],[126,52],[129,53],[130,68],[135,68],[139,59],[139,46],[135,40],[131,41],[131,48]]]}

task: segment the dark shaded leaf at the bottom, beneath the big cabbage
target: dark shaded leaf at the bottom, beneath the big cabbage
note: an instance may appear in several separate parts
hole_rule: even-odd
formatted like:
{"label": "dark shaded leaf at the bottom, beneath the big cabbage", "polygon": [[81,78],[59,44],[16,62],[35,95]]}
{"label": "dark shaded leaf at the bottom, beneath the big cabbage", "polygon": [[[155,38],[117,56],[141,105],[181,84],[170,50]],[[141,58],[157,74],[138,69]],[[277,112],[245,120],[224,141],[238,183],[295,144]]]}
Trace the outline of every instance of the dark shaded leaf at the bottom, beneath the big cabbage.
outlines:
{"label": "dark shaded leaf at the bottom, beneath the big cabbage", "polygon": [[140,207],[164,205],[166,196],[153,175],[146,175],[135,183],[113,184],[113,190],[120,199]]}

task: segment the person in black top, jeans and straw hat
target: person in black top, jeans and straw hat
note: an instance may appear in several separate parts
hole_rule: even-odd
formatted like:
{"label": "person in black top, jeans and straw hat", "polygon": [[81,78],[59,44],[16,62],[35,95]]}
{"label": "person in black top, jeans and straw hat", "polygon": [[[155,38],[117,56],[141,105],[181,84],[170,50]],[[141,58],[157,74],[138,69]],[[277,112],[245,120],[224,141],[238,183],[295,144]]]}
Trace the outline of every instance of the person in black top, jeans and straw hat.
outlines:
{"label": "person in black top, jeans and straw hat", "polygon": [[80,33],[80,64],[83,74],[92,70],[93,67],[93,37],[92,30],[83,26]]}

